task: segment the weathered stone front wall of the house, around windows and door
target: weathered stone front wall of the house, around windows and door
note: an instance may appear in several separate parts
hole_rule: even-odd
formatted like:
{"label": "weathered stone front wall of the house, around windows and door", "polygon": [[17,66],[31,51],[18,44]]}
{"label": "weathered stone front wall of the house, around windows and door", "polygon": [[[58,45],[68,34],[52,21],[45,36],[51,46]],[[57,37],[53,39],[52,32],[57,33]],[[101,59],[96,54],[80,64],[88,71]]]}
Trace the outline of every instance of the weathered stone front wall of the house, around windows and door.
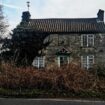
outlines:
{"label": "weathered stone front wall of the house, around windows and door", "polygon": [[70,62],[81,63],[82,55],[94,55],[95,64],[105,63],[105,34],[94,34],[93,47],[81,47],[81,34],[51,34],[46,40],[46,64],[57,65],[56,52],[65,48],[70,52]]}

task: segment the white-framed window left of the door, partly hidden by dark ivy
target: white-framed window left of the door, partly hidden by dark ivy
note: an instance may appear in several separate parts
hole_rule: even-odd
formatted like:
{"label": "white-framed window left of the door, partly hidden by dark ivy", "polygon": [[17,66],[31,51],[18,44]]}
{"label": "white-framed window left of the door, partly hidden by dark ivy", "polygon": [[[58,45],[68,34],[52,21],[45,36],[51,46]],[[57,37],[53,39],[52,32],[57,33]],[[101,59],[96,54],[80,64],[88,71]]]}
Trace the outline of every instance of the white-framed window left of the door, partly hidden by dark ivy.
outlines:
{"label": "white-framed window left of the door, partly hidden by dark ivy", "polygon": [[37,67],[37,68],[43,68],[43,67],[45,67],[45,57],[44,56],[36,57],[33,60],[32,65]]}

